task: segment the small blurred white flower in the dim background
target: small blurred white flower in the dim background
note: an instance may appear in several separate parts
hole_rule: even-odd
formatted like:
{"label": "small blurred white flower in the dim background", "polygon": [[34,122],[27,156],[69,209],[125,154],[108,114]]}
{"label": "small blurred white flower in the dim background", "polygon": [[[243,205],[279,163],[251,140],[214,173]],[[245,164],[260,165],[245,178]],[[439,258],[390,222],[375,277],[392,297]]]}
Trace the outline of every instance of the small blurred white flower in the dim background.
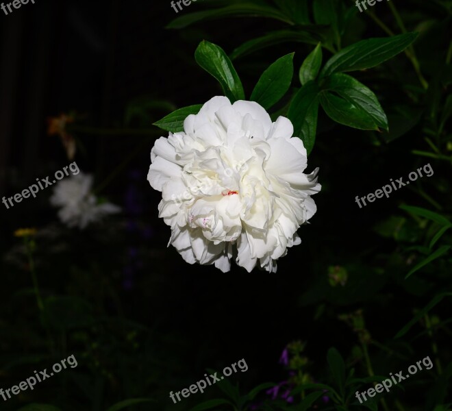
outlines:
{"label": "small blurred white flower in the dim background", "polygon": [[60,207],[58,217],[68,227],[84,229],[103,216],[120,212],[121,208],[111,203],[99,203],[92,194],[92,175],[79,173],[58,182],[50,198],[52,206]]}

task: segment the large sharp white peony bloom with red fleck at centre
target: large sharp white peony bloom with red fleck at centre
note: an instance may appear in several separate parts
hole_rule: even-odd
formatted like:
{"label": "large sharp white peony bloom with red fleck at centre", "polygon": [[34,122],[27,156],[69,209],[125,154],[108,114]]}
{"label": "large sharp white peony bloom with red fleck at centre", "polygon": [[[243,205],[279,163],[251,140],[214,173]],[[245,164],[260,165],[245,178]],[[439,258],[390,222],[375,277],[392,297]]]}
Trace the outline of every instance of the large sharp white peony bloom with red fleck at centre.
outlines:
{"label": "large sharp white peony bloom with red fleck at centre", "polygon": [[162,191],[159,216],[186,262],[226,272],[234,256],[247,271],[276,272],[275,260],[300,244],[321,185],[318,169],[303,173],[306,150],[292,134],[286,117],[272,123],[258,103],[214,97],[184,132],[155,142],[147,178]]}

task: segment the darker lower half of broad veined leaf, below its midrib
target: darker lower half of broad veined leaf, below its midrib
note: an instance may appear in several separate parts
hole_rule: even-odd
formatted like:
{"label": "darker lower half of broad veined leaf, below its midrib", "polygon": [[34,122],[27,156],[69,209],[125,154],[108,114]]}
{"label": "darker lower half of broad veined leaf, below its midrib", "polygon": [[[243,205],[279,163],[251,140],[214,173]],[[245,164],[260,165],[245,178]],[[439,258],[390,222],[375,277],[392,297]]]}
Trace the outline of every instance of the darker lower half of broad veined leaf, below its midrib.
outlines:
{"label": "darker lower half of broad veined leaf, below its midrib", "polygon": [[378,130],[378,126],[365,110],[331,92],[321,92],[320,102],[330,119],[362,130]]}

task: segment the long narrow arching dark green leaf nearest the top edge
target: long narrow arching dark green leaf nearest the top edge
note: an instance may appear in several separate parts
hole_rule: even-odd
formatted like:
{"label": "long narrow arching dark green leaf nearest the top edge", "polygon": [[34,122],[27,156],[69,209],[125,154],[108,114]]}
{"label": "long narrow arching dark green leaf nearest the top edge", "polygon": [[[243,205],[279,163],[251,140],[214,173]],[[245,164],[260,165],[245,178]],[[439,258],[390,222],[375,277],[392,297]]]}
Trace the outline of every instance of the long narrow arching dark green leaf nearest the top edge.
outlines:
{"label": "long narrow arching dark green leaf nearest the top edge", "polygon": [[293,25],[291,18],[279,10],[268,5],[258,5],[253,3],[240,3],[228,5],[224,8],[217,8],[214,10],[203,10],[202,12],[194,12],[185,14],[184,16],[176,17],[171,23],[166,25],[167,29],[184,29],[193,23],[205,20],[214,20],[215,18],[224,18],[232,16],[252,16],[252,17],[267,17],[275,18],[279,21],[284,21]]}

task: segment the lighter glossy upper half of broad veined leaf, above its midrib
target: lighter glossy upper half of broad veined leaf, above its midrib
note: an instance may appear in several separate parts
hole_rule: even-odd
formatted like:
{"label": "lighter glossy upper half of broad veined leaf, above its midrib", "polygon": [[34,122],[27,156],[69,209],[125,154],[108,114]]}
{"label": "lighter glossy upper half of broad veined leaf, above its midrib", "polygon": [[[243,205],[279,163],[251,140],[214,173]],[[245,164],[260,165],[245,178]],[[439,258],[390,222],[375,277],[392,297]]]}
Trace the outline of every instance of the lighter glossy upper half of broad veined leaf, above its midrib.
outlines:
{"label": "lighter glossy upper half of broad veined leaf, above its midrib", "polygon": [[347,74],[335,73],[325,79],[322,88],[336,92],[342,99],[371,116],[377,127],[388,130],[388,119],[377,97],[357,79]]}

